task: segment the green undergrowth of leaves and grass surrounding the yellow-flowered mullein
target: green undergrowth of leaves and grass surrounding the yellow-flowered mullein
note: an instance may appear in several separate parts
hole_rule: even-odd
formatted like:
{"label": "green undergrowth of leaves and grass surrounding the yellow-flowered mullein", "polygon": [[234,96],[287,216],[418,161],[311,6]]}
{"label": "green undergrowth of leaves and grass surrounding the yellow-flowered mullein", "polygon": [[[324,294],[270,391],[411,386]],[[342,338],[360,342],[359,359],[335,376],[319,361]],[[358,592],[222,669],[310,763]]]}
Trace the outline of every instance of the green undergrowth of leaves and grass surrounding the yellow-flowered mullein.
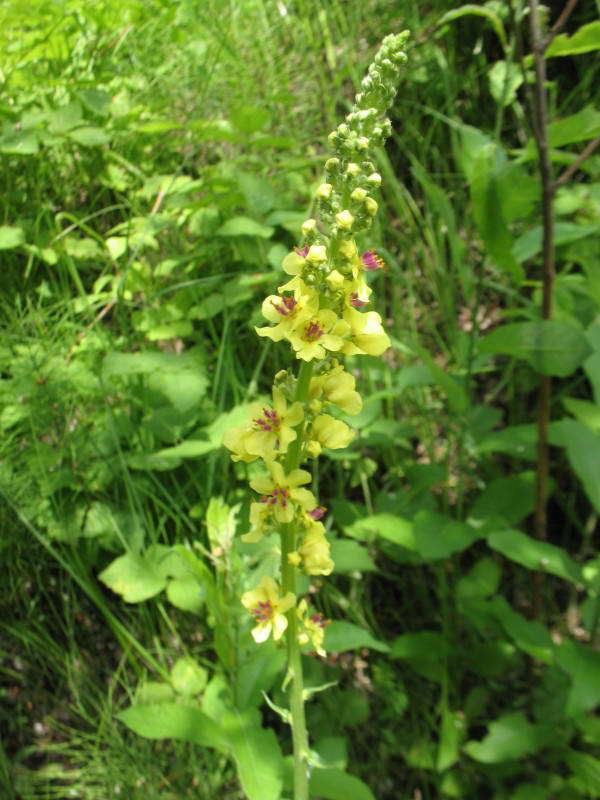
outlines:
{"label": "green undergrowth of leaves and grass surrounding the yellow-flowered mullein", "polygon": [[285,653],[240,602],[280,548],[222,442],[293,366],[261,301],[405,28],[358,237],[391,348],[348,357],[358,435],[310,485],[313,796],[600,795],[600,23],[539,11],[2,10],[3,795],[293,796]]}

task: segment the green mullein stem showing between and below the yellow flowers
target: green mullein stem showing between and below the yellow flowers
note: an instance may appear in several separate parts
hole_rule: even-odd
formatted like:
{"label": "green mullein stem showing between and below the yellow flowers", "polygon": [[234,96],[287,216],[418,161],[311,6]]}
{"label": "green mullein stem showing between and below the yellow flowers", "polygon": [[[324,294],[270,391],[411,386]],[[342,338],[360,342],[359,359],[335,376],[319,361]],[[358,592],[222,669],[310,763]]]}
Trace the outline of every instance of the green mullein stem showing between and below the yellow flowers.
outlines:
{"label": "green mullein stem showing between and below the yellow flowers", "polygon": [[[306,408],[312,375],[312,361],[303,361],[298,373],[296,402]],[[295,428],[296,439],[288,447],[285,459],[287,474],[300,466],[304,420]],[[296,550],[296,526],[293,522],[284,525],[281,531],[281,590],[296,594],[296,567],[288,561],[288,555]],[[308,734],[304,715],[304,680],[302,655],[298,643],[298,619],[296,607],[287,613],[286,640],[288,648],[288,670],[286,680],[291,680],[290,711],[292,716],[292,741],[294,745],[294,800],[308,800]]]}

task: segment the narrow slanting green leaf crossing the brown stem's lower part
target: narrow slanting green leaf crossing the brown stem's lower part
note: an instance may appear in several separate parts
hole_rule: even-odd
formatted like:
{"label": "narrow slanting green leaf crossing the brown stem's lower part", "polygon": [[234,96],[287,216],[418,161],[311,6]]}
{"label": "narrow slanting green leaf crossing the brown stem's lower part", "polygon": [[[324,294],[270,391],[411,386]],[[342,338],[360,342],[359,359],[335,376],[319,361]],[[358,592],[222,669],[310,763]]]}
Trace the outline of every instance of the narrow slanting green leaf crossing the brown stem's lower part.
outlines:
{"label": "narrow slanting green leaf crossing the brown stem's lower part", "polygon": [[549,542],[540,542],[513,529],[496,531],[487,537],[487,541],[492,550],[527,569],[549,572],[573,583],[583,580],[581,567],[564,550]]}

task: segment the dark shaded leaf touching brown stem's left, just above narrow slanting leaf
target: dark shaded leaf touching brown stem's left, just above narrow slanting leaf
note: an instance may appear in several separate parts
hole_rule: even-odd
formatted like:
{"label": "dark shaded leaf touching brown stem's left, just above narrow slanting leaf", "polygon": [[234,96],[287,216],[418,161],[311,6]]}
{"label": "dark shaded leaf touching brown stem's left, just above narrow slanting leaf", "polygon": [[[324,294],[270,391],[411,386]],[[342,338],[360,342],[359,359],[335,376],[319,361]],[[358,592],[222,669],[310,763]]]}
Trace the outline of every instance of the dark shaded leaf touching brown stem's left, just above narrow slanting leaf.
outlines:
{"label": "dark shaded leaf touching brown stem's left, just above narrow slanting leaf", "polygon": [[502,518],[507,525],[516,525],[535,507],[535,473],[521,472],[492,481],[477,497],[469,520],[481,525],[486,519]]}

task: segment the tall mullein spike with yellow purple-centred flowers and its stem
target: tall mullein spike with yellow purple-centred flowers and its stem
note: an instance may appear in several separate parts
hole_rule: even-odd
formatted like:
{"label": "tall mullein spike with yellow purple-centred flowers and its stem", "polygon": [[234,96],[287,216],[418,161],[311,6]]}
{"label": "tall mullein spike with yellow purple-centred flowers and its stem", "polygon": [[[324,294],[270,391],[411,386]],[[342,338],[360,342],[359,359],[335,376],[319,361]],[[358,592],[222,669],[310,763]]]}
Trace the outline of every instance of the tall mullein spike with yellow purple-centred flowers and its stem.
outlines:
{"label": "tall mullein spike with yellow purple-centred flowers and its stem", "polygon": [[299,361],[297,375],[275,375],[272,404],[252,408],[246,425],[228,431],[225,446],[234,461],[262,460],[264,474],[250,481],[257,497],[250,506],[250,531],[258,542],[276,531],[281,538],[279,581],[265,576],[241,602],[252,615],[256,642],[285,636],[289,720],[294,745],[294,797],[308,798],[308,736],[304,715],[301,647],[325,655],[327,621],[296,593],[298,570],[329,575],[334,564],[321,518],[326,509],[306,488],[311,473],[301,465],[323,448],[347,447],[354,432],[327,413],[335,407],[358,414],[362,399],[343,356],[380,356],[390,340],[375,311],[367,274],[383,266],[372,249],[361,253],[356,234],[367,232],[377,213],[373,192],[381,185],[372,159],[374,148],[391,133],[385,113],[396,94],[408,32],[387,36],[362,81],[345,121],[329,136],[332,156],[325,181],[316,191],[315,218],[302,225],[303,242],[283,260],[290,279],[262,304],[269,325],[259,336],[287,341]]}

